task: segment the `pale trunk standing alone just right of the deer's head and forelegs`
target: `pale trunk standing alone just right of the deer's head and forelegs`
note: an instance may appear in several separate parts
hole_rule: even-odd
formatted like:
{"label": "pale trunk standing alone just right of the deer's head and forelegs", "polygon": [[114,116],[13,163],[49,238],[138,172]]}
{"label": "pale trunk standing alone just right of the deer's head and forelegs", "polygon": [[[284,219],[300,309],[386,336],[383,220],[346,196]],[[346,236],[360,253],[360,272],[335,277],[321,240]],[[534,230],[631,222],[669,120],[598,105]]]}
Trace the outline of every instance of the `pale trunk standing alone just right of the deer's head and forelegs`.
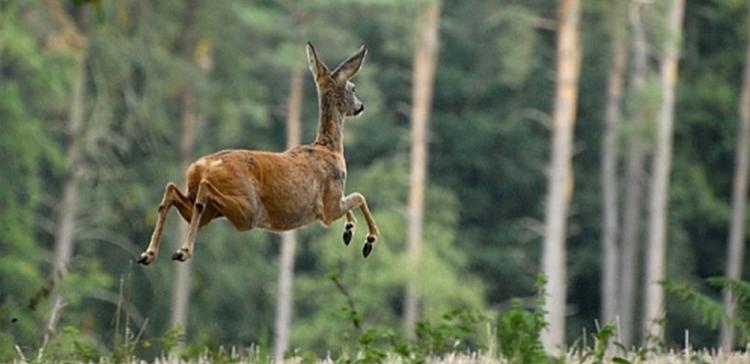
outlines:
{"label": "pale trunk standing alone just right of the deer's head and forelegs", "polygon": [[417,21],[412,73],[412,128],[411,174],[409,176],[408,227],[409,265],[413,269],[404,297],[404,332],[414,337],[414,325],[419,316],[420,293],[416,277],[422,255],[422,224],[424,189],[427,175],[427,139],[429,130],[432,91],[437,64],[440,3],[433,0]]}

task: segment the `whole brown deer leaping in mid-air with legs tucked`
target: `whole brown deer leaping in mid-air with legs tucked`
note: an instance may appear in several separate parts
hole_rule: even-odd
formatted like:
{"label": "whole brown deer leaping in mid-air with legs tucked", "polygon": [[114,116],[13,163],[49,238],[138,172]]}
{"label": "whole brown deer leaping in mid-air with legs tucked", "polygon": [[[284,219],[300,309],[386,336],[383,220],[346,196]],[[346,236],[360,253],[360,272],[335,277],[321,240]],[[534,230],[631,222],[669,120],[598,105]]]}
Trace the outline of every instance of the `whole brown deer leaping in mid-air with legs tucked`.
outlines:
{"label": "whole brown deer leaping in mid-air with legs tucked", "polygon": [[187,170],[187,196],[174,183],[167,183],[151,242],[138,263],[148,265],[156,259],[172,206],[190,223],[185,242],[172,255],[181,262],[193,255],[198,230],[222,216],[239,231],[255,227],[285,231],[316,219],[328,226],[346,215],[343,239],[349,245],[356,222],[351,210],[357,207],[369,229],[362,254],[365,258],[370,255],[378,228],[361,193],[344,195],[343,141],[344,118],[360,115],[365,109],[350,80],[362,67],[367,48],[362,45],[333,72],[318,58],[311,43],[306,50],[318,90],[320,116],[315,141],[282,153],[236,149],[199,158]]}

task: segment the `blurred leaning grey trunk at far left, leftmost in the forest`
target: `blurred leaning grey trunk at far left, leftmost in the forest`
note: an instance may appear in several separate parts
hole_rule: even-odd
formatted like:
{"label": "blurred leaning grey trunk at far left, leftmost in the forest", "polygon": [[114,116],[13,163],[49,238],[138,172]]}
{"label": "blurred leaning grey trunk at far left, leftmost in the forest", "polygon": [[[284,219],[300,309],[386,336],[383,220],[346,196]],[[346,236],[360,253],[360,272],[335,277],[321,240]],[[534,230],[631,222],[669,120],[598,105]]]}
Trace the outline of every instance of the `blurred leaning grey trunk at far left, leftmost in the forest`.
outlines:
{"label": "blurred leaning grey trunk at far left, leftmost in the forest", "polygon": [[[67,273],[75,243],[78,186],[81,182],[83,172],[83,166],[81,165],[81,133],[83,130],[87,57],[86,49],[83,49],[78,55],[78,67],[73,81],[72,99],[68,114],[68,145],[65,153],[68,168],[67,176],[63,182],[62,198],[58,206],[57,227],[55,228],[55,255],[52,260],[52,272],[50,276],[53,291]],[[56,293],[53,302],[62,302],[62,297]],[[52,334],[56,330],[58,319],[59,315],[52,315],[49,318],[46,326],[47,335]]]}

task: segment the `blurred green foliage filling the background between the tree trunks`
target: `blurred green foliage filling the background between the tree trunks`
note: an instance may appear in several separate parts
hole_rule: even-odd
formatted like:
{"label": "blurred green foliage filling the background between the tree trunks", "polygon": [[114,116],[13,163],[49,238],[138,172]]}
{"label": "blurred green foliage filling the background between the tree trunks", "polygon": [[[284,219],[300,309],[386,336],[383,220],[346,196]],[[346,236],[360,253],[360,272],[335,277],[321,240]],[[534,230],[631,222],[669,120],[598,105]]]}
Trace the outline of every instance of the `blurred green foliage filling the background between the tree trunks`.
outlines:
{"label": "blurred green foliage filling the background between the tree trunks", "polygon": [[[56,15],[68,17],[68,25],[81,32],[87,45],[76,249],[69,274],[56,287],[67,303],[61,326],[75,324],[78,332],[54,339],[67,340],[51,349],[61,360],[83,360],[96,351],[113,360],[150,359],[160,351],[230,360],[222,348],[230,344],[256,345],[256,354],[265,355],[258,353],[267,350],[272,338],[275,236],[238,233],[221,221],[201,230],[189,324],[179,335],[169,330],[168,322],[173,274],[168,252],[178,243],[175,226],[184,224],[174,212],[158,263],[133,269],[130,294],[119,306],[114,277],[131,269],[128,262],[148,241],[164,185],[183,178],[178,154],[185,88],[193,88],[198,102],[195,157],[224,148],[281,150],[289,71],[304,66],[306,40],[315,42],[330,63],[362,43],[371,50],[356,79],[367,112],[346,122],[347,190],[367,196],[382,236],[373,255],[362,260],[356,244],[364,240],[365,229],[358,212],[355,246],[341,244],[339,222],[327,230],[311,226],[299,231],[291,340],[297,357],[317,358],[341,348],[347,360],[358,360],[361,351],[362,360],[397,355],[418,361],[433,355],[428,353],[481,348],[475,326],[482,322],[472,319],[483,319],[468,312],[486,312],[510,297],[534,292],[554,92],[550,70],[555,44],[549,30],[556,13],[550,1],[442,5],[425,249],[418,266],[406,258],[404,205],[414,19],[423,1],[200,0],[194,4],[191,29],[184,24],[188,2],[60,3],[63,14],[51,13],[54,2],[42,0],[0,5],[0,277],[12,278],[0,280],[0,317],[13,319],[0,322],[0,361],[17,358],[16,344],[26,354],[38,349],[51,306],[42,299],[36,310],[27,308],[29,299],[47,287],[60,190],[68,176],[64,146],[71,136],[65,122],[79,69],[76,55],[81,54]],[[644,12],[649,13],[644,21],[651,68],[661,44],[670,40],[660,31],[663,4],[647,4],[655,11]],[[568,317],[569,333],[590,326],[599,312],[598,299],[592,297],[597,297],[599,279],[597,176],[610,52],[603,14],[610,7],[588,2],[582,14],[567,277],[569,301],[577,311]],[[744,62],[744,47],[738,45],[747,41],[746,20],[737,14],[746,7],[745,1],[727,0],[686,8],[668,276],[691,287],[700,287],[703,277],[721,274],[725,265],[716,247],[726,240]],[[186,34],[196,39],[192,49],[185,49]],[[625,95],[628,120],[620,131],[621,136],[638,135],[648,145],[660,96],[653,72],[647,78],[643,88]],[[309,142],[317,100],[307,74],[304,83],[303,141]],[[331,271],[348,287],[356,310],[326,279]],[[414,342],[394,332],[410,280],[418,283],[424,298],[425,320]],[[716,284],[736,290],[744,302],[746,287]],[[716,292],[676,290],[688,303],[670,302],[670,322],[718,322],[720,311],[711,301]],[[541,306],[533,306],[513,301],[498,318],[505,357],[543,358]],[[741,306],[734,323],[746,333],[748,313]],[[466,315],[444,316],[456,307]],[[131,323],[113,330],[110,318],[117,314],[130,315]],[[149,324],[137,340],[141,327],[129,326],[146,319]],[[364,329],[352,329],[355,320]],[[682,327],[670,324],[666,329],[665,347],[681,341]],[[696,346],[712,345],[713,332],[701,331],[692,336]],[[601,353],[597,348],[596,355]]]}

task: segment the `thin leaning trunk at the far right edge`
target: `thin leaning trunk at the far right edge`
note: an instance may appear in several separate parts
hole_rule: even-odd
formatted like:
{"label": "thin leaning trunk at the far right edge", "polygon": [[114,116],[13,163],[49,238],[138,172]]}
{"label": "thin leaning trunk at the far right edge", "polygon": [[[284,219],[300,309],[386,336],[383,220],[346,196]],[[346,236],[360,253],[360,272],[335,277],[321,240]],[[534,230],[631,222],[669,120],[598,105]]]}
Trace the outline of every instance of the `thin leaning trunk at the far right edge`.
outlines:
{"label": "thin leaning trunk at the far right edge", "polygon": [[[748,12],[750,15],[750,12]],[[748,17],[750,19],[750,16]],[[750,24],[750,23],[749,23]],[[750,26],[748,26],[750,30]],[[742,258],[745,256],[745,205],[747,199],[748,152],[750,152],[750,32],[745,51],[745,71],[742,75],[742,91],[739,100],[740,122],[737,132],[734,186],[732,188],[732,220],[729,226],[727,249],[727,271],[729,279],[742,278]],[[734,318],[737,302],[730,290],[724,290],[724,313]],[[725,319],[721,323],[719,345],[731,350],[735,343],[734,326]]]}

